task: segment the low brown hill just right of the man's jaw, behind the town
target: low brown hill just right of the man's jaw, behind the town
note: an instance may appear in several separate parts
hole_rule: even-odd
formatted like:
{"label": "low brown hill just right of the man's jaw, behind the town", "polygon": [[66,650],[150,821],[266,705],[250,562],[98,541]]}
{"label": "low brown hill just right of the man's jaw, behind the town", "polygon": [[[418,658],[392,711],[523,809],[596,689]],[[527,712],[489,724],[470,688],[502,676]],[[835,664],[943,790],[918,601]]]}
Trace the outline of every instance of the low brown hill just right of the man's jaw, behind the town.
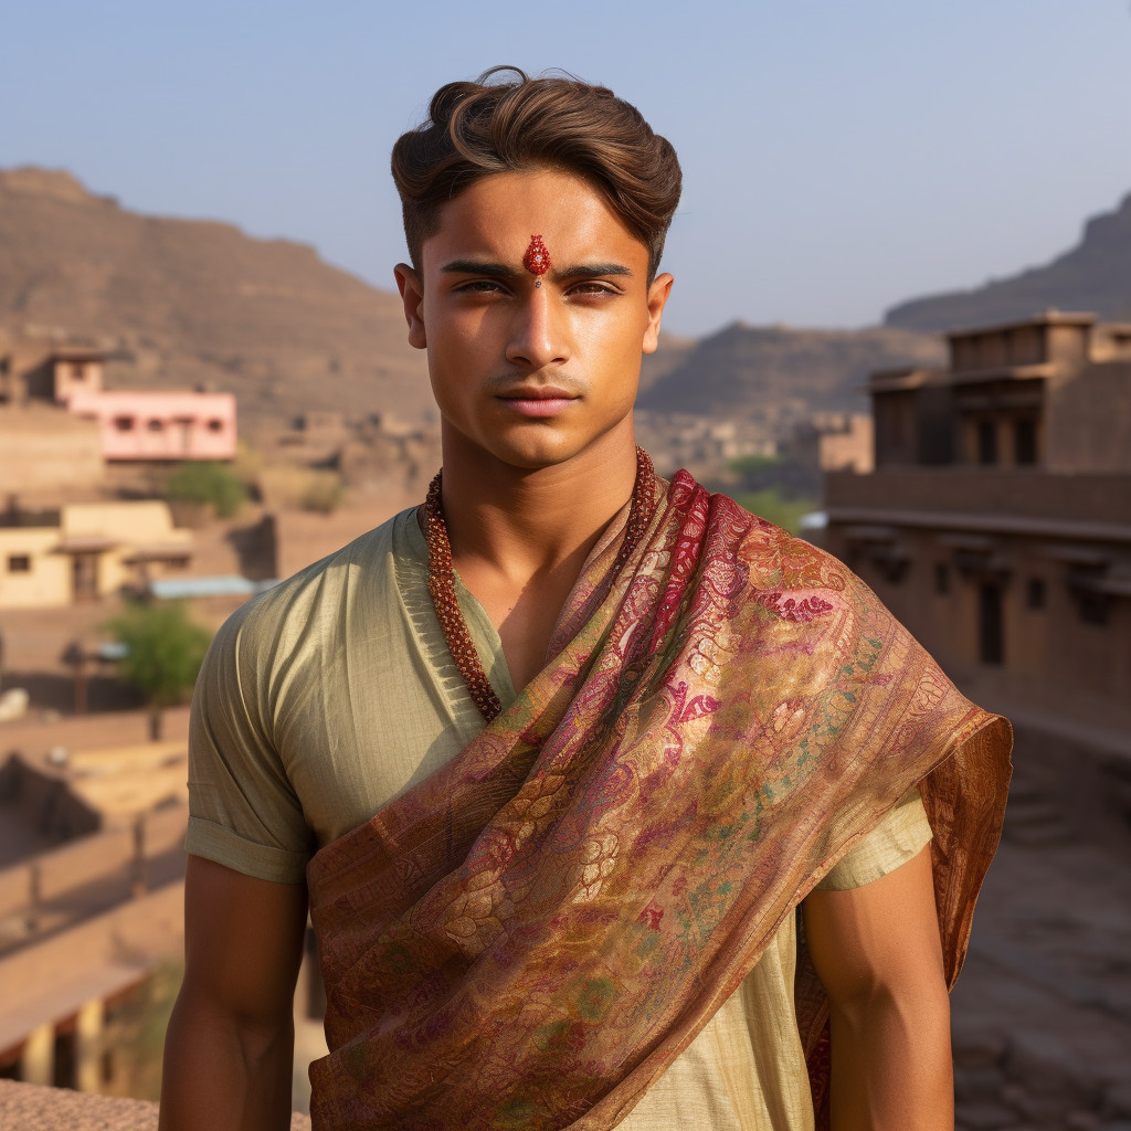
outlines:
{"label": "low brown hill just right of the man's jaw, behind the town", "polygon": [[776,429],[812,412],[865,412],[862,386],[872,370],[942,361],[942,342],[912,330],[734,322],[684,347],[679,363],[644,391],[640,404],[656,412],[741,414]]}

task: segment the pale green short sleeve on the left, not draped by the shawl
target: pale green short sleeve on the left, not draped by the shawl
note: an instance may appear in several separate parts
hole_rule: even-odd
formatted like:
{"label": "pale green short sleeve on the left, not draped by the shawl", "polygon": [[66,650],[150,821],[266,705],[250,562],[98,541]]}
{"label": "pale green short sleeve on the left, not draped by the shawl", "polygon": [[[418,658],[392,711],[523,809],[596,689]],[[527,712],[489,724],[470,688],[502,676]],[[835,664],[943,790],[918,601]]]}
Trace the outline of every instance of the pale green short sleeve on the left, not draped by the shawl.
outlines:
{"label": "pale green short sleeve on the left, not draped by the shawl", "polygon": [[314,838],[265,720],[261,625],[248,610],[217,632],[197,679],[185,849],[245,875],[299,883]]}

